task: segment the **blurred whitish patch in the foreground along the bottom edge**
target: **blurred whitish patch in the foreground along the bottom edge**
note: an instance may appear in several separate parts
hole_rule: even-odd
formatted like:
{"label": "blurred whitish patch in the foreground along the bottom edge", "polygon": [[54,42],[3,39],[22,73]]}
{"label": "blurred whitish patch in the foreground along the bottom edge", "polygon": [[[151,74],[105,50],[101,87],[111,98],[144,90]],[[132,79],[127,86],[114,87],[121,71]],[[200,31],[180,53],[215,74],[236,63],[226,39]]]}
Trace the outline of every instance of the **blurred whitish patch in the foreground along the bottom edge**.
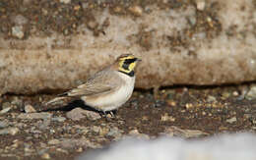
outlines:
{"label": "blurred whitish patch in the foreground along the bottom edge", "polygon": [[223,134],[201,140],[160,137],[128,138],[109,149],[84,154],[78,160],[255,160],[256,135]]}

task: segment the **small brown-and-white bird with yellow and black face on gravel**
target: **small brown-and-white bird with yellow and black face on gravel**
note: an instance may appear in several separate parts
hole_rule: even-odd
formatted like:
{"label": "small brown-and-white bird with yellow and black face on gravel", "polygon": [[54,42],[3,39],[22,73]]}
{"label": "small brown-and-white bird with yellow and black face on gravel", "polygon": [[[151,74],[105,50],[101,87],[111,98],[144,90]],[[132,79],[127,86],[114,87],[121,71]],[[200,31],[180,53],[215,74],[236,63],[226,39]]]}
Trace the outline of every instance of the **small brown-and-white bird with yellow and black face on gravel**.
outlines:
{"label": "small brown-and-white bird with yellow and black face on gravel", "polygon": [[121,55],[84,84],[60,94],[46,105],[66,98],[81,98],[86,105],[104,114],[110,111],[112,115],[111,111],[122,106],[132,95],[138,61],[141,60],[132,54]]}

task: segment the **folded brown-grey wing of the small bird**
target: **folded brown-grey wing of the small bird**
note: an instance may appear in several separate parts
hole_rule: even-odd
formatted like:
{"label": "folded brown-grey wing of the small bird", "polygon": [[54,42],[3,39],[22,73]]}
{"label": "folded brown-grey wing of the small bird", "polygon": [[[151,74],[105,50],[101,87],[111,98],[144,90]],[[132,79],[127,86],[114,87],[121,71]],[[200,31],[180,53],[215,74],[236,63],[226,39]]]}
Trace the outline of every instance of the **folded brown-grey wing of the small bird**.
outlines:
{"label": "folded brown-grey wing of the small bird", "polygon": [[[119,81],[118,81],[119,80]],[[123,82],[114,71],[98,72],[86,83],[66,92],[67,96],[96,95],[116,89]]]}

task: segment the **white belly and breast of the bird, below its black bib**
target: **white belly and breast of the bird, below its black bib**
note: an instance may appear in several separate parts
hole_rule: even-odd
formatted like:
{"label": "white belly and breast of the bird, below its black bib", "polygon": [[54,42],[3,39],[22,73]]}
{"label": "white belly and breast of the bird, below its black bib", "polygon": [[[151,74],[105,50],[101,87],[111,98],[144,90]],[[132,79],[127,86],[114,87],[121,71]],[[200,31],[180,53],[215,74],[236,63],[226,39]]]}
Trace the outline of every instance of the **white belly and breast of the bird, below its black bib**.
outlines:
{"label": "white belly and breast of the bird, below its black bib", "polygon": [[124,86],[108,95],[99,96],[96,99],[84,97],[86,104],[101,111],[111,111],[123,105],[132,95],[135,77],[127,79],[128,76],[119,74],[126,81]]}

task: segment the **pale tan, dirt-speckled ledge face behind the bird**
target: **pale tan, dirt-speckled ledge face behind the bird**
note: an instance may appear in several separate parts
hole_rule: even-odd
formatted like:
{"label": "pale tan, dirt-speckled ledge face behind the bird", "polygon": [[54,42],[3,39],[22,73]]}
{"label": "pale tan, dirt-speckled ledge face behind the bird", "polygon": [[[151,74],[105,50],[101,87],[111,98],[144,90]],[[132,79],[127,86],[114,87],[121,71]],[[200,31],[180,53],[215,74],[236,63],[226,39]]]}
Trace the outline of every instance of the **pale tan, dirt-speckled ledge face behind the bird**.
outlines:
{"label": "pale tan, dirt-speckled ledge face behind the bird", "polygon": [[28,22],[16,17],[18,33],[12,30],[6,38],[0,32],[0,93],[67,89],[122,53],[143,59],[137,87],[256,80],[254,1],[133,5],[127,15],[116,8],[93,10],[95,19],[68,35],[23,32],[19,27]]}

